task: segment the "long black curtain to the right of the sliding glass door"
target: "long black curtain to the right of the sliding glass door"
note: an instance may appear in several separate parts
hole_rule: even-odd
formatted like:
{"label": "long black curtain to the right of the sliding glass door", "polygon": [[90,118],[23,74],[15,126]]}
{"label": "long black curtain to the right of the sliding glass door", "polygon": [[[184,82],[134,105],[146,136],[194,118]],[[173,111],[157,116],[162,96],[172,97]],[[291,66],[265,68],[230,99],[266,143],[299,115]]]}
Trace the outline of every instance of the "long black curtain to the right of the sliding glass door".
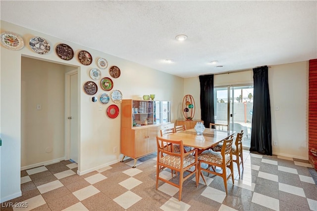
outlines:
{"label": "long black curtain to the right of the sliding glass door", "polygon": [[267,66],[253,69],[254,98],[250,151],[272,155],[271,108]]}

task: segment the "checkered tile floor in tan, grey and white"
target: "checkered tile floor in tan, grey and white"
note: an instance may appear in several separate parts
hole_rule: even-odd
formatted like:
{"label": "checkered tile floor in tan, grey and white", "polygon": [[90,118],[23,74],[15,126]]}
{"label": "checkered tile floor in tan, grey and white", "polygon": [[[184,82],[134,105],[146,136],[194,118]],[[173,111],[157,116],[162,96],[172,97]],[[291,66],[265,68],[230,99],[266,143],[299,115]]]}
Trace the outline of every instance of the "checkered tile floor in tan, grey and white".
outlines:
{"label": "checkered tile floor in tan, grey and white", "polygon": [[[225,194],[221,177],[210,175],[184,182],[182,201],[178,189],[159,181],[156,190],[156,155],[134,161],[128,158],[82,176],[77,164],[61,161],[21,171],[22,196],[1,204],[1,211],[317,211],[317,185],[308,161],[244,152],[244,172],[228,181]],[[160,173],[167,179],[171,173]],[[177,178],[176,178],[177,179]],[[28,205],[27,208],[12,208]],[[19,204],[18,204],[19,205]]]}

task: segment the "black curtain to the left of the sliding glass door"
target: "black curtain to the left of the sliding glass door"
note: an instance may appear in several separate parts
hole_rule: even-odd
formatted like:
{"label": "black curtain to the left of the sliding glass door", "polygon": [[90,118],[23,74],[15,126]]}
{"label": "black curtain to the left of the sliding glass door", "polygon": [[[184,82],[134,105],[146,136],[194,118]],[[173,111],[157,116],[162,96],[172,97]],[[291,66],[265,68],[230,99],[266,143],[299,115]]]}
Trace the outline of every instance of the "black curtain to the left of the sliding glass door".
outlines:
{"label": "black curtain to the left of the sliding glass door", "polygon": [[199,75],[200,81],[200,108],[201,119],[204,121],[206,128],[210,123],[214,123],[213,111],[213,74]]}

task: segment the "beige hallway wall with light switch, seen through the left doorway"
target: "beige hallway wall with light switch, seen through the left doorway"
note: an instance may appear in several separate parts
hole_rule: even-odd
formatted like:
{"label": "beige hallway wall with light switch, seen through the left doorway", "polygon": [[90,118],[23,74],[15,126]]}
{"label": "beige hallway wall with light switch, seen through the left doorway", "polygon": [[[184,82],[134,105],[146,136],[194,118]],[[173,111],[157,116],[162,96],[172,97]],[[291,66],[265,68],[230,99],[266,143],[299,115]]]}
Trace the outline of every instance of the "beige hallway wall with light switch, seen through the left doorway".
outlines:
{"label": "beige hallway wall with light switch, seen through the left doorway", "polygon": [[65,66],[22,57],[21,169],[64,158],[64,78]]}

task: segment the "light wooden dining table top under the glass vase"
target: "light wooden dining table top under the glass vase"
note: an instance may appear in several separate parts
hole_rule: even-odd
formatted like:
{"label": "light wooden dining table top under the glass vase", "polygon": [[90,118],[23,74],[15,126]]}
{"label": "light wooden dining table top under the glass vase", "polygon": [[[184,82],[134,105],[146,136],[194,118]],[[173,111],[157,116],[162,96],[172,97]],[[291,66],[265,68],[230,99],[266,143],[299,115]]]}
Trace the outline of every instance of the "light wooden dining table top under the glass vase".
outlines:
{"label": "light wooden dining table top under the glass vase", "polygon": [[[194,133],[195,132],[195,133]],[[203,135],[197,135],[195,129],[189,129],[180,133],[162,136],[163,139],[183,141],[183,145],[199,149],[208,149],[217,145],[220,141],[233,135],[235,131],[219,131],[206,128]]]}

